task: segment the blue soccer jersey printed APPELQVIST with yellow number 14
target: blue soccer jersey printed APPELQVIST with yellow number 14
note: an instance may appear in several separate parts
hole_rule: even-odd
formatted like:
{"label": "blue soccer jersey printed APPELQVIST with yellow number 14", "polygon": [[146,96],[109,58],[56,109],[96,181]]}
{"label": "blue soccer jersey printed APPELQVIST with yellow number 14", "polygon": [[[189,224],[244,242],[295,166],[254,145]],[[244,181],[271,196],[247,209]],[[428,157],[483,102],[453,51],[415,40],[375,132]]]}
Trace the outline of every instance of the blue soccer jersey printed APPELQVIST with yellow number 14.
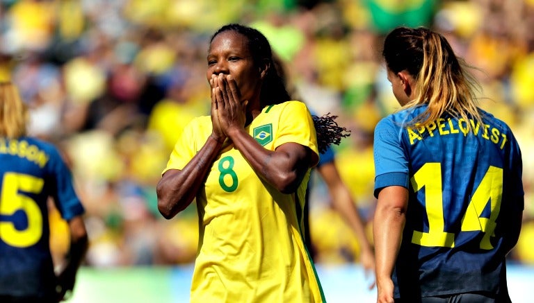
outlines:
{"label": "blue soccer jersey printed APPELQVIST with yellow number 14", "polygon": [[409,191],[395,297],[506,293],[505,243],[517,236],[506,225],[524,208],[517,141],[487,112],[483,123],[444,116],[403,128],[424,110],[391,114],[375,128],[375,196],[394,185]]}

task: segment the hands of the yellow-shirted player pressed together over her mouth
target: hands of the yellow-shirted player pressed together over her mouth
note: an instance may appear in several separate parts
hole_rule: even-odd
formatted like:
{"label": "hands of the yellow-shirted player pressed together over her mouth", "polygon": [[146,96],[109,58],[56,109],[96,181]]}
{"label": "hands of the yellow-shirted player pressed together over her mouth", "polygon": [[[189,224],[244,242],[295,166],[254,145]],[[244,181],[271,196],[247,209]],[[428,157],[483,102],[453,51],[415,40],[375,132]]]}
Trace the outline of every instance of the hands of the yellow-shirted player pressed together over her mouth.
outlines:
{"label": "hands of the yellow-shirted player pressed together over her mouth", "polygon": [[241,92],[232,76],[220,73],[213,80],[220,128],[230,137],[232,130],[245,127],[248,101],[241,102]]}

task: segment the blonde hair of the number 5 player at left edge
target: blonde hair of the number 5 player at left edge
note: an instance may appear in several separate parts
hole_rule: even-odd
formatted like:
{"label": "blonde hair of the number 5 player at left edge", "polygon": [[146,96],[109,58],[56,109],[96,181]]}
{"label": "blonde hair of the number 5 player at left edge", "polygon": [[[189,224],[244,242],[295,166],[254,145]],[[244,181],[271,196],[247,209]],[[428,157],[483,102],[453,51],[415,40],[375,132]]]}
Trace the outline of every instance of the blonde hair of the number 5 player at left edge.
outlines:
{"label": "blonde hair of the number 5 player at left edge", "polygon": [[17,87],[10,82],[0,82],[0,136],[25,136],[28,118],[27,107]]}

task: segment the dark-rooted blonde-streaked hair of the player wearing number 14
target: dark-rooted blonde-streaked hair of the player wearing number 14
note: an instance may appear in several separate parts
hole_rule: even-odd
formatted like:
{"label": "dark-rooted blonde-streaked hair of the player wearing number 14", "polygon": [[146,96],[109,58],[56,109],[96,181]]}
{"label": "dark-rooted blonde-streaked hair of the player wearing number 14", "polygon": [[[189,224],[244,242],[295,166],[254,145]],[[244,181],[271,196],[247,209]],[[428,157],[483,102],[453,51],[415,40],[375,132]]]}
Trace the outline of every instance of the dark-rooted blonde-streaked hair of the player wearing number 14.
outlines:
{"label": "dark-rooted blonde-streaked hair of the player wearing number 14", "polygon": [[426,126],[446,113],[482,121],[476,97],[480,85],[467,72],[473,67],[456,57],[444,36],[422,27],[396,28],[386,37],[382,55],[391,71],[406,70],[416,79],[416,98],[401,110],[428,104],[406,127]]}

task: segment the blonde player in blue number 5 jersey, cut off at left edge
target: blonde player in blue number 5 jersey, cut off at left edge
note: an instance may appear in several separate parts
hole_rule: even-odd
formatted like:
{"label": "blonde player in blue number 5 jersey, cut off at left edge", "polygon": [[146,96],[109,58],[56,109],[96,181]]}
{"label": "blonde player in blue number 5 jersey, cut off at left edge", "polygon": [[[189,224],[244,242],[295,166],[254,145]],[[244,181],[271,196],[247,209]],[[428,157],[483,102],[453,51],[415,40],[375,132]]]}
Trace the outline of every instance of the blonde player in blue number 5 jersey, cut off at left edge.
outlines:
{"label": "blonde player in blue number 5 jersey, cut off at left edge", "polygon": [[[83,206],[58,149],[26,135],[27,111],[13,83],[0,83],[0,302],[60,302],[88,248]],[[60,273],[50,252],[47,201],[70,227]]]}

